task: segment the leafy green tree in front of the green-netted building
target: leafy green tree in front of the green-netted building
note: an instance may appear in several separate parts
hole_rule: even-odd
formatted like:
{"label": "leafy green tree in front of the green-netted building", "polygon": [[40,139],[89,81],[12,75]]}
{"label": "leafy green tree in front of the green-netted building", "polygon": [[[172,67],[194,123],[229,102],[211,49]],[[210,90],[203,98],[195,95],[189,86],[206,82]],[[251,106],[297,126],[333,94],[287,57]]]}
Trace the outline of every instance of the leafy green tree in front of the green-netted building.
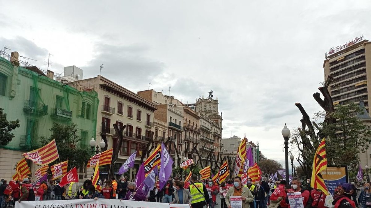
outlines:
{"label": "leafy green tree in front of the green-netted building", "polygon": [[59,153],[59,160],[52,164],[68,160],[68,169],[72,167],[81,167],[91,157],[91,152],[85,144],[80,145],[81,139],[78,136],[76,124],[53,123],[52,135],[50,138],[42,138],[41,142],[46,145],[48,142],[55,140]]}

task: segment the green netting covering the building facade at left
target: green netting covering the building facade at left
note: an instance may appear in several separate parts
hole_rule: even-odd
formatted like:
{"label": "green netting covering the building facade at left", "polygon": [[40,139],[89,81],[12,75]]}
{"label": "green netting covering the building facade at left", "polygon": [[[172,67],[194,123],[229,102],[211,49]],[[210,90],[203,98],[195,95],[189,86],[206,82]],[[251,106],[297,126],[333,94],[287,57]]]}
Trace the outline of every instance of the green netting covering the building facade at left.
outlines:
{"label": "green netting covering the building facade at left", "polygon": [[0,57],[4,86],[0,108],[7,114],[7,120],[20,120],[20,127],[12,131],[15,137],[2,148],[20,151],[39,148],[40,138],[52,134],[53,122],[77,124],[80,145],[90,147],[89,140],[96,135],[98,94],[79,91],[33,69],[37,68],[16,67]]}

